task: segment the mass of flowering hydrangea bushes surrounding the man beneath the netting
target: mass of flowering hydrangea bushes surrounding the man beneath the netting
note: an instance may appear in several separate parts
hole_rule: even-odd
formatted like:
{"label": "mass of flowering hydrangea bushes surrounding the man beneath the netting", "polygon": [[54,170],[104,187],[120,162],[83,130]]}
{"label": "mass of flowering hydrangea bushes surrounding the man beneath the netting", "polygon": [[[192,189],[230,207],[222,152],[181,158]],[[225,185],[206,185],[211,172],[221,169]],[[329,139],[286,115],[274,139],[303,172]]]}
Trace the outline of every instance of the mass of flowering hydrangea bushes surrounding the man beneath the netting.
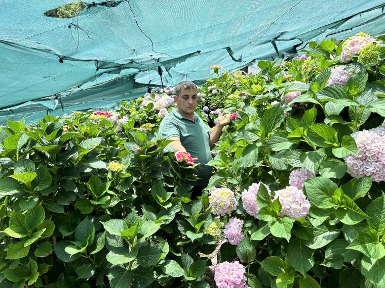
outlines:
{"label": "mass of flowering hydrangea bushes surrounding the man beneath the netting", "polygon": [[173,87],[8,121],[1,287],[384,287],[383,39],[310,42],[256,74],[213,65],[198,113],[231,121],[194,199],[199,164],[157,133]]}

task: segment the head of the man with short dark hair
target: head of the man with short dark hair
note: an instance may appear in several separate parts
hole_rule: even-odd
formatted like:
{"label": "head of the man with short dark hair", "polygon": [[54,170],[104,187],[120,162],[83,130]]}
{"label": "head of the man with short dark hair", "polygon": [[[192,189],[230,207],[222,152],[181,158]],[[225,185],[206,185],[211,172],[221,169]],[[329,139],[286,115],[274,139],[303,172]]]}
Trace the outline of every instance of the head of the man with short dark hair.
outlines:
{"label": "head of the man with short dark hair", "polygon": [[194,114],[198,104],[197,85],[191,81],[182,81],[175,86],[175,102],[178,112],[185,115]]}

